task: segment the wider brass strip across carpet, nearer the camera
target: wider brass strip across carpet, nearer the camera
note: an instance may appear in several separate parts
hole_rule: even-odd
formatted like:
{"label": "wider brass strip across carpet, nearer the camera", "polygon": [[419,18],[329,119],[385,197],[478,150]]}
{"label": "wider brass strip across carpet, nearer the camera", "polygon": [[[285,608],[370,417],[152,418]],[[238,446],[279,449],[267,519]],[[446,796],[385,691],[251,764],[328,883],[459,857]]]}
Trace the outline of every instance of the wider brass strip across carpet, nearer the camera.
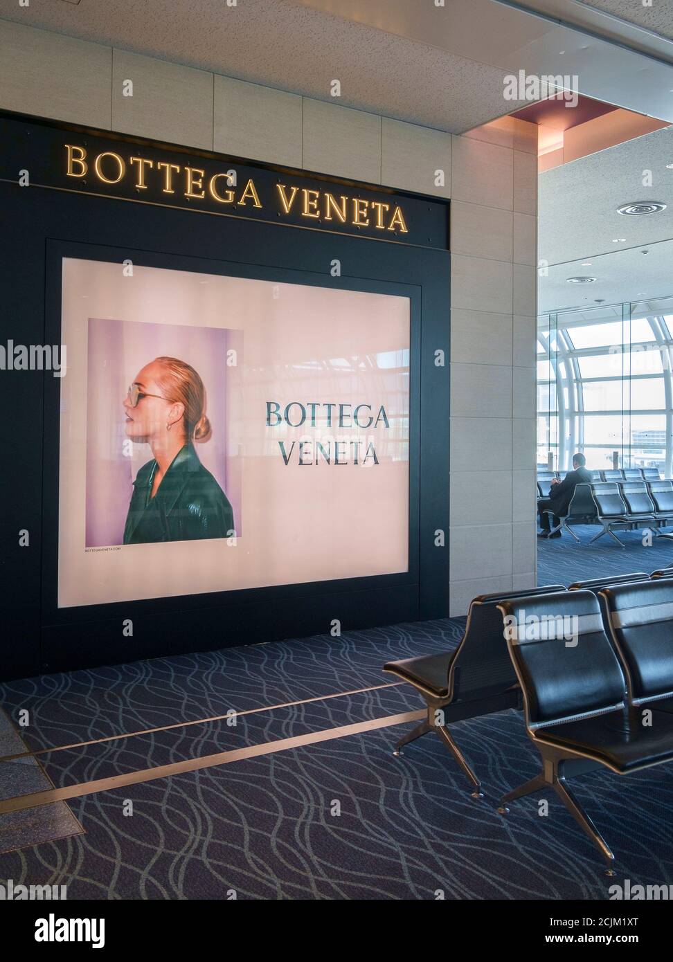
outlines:
{"label": "wider brass strip across carpet, nearer the camera", "polygon": [[123,775],[113,775],[110,778],[99,778],[95,781],[81,782],[78,785],[68,785],[66,788],[49,789],[44,792],[34,792],[15,798],[0,801],[0,815],[6,812],[20,812],[24,808],[37,808],[52,801],[65,801],[67,798],[79,798],[84,795],[94,795],[97,792],[109,792],[112,789],[123,788],[126,785],[139,785],[142,782],[154,781],[157,778],[168,778],[170,775],[184,772],[197,772],[199,769],[210,769],[217,765],[228,765],[246,758],[256,758],[259,755],[270,755],[277,751],[288,751],[304,745],[316,745],[319,742],[329,742],[336,738],[348,738],[363,731],[374,731],[376,728],[389,728],[404,722],[418,722],[427,718],[427,709],[416,712],[404,712],[401,715],[387,715],[368,722],[355,722],[338,728],[324,728],[321,731],[310,732],[306,735],[296,735],[293,738],[281,738],[274,742],[264,742],[261,745],[250,745],[246,748],[234,748],[230,751],[219,751],[214,755],[203,755],[201,758],[188,758],[171,765],[158,765],[152,769],[142,769],[139,772],[127,772]]}

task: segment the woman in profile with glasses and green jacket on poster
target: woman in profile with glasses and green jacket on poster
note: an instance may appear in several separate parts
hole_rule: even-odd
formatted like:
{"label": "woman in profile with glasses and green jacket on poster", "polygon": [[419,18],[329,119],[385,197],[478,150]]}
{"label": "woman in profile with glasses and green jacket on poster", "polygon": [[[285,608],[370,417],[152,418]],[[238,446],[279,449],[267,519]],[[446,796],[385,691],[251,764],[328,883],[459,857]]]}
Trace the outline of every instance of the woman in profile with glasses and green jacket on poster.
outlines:
{"label": "woman in profile with glasses and green jacket on poster", "polygon": [[231,505],[194,450],[194,441],[211,436],[194,367],[155,358],[138,372],[123,404],[126,437],[149,444],[153,454],[133,483],[124,544],[231,536]]}

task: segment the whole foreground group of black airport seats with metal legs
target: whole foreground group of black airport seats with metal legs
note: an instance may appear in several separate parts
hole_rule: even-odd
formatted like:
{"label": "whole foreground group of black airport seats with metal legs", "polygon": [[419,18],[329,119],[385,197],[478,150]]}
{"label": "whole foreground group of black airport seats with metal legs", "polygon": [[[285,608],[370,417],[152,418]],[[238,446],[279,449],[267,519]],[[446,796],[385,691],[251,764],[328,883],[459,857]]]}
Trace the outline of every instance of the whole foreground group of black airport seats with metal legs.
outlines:
{"label": "whole foreground group of black airport seats with metal legs", "polygon": [[[442,654],[388,662],[384,671],[423,696],[427,720],[398,742],[434,731],[483,797],[448,725],[523,708],[541,772],[502,798],[553,789],[606,858],[614,855],[573,796],[567,777],[617,774],[673,760],[673,567],[594,578],[569,588],[479,595],[463,638]],[[654,720],[654,721],[653,721]]]}

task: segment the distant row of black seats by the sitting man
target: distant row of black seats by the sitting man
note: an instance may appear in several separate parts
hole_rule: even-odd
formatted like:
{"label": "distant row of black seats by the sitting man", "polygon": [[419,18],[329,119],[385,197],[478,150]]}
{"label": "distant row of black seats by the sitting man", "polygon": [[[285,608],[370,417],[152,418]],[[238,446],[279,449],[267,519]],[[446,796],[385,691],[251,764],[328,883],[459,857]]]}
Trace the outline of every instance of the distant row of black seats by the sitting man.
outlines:
{"label": "distant row of black seats by the sitting man", "polygon": [[[554,509],[545,513],[555,515]],[[573,524],[600,525],[601,530],[591,538],[589,544],[607,534],[620,547],[625,547],[614,533],[615,530],[649,528],[656,537],[660,537],[660,528],[673,524],[673,481],[598,481],[579,484],[565,515],[558,516],[556,526],[550,524],[550,533],[567,531],[580,544]]]}

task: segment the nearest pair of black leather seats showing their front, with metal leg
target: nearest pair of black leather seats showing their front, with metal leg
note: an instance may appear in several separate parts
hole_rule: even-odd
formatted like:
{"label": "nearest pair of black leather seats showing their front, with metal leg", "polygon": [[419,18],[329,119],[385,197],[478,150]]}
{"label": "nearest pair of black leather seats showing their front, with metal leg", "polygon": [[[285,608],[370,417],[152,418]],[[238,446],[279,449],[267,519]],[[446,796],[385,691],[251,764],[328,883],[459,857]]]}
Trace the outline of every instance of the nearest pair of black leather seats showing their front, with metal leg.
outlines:
{"label": "nearest pair of black leather seats showing their front, with metal leg", "polygon": [[[552,788],[613,874],[614,855],[566,779],[592,767],[623,775],[673,761],[673,715],[662,710],[665,699],[658,700],[673,696],[673,583],[614,585],[600,595],[531,595],[499,607],[526,727],[542,762],[538,775],[503,797],[499,811],[508,812],[515,798]],[[562,623],[562,634],[550,632],[550,619]],[[619,648],[606,633],[608,620]],[[660,630],[653,632],[653,625]],[[652,712],[651,725],[643,723],[643,705]]]}

